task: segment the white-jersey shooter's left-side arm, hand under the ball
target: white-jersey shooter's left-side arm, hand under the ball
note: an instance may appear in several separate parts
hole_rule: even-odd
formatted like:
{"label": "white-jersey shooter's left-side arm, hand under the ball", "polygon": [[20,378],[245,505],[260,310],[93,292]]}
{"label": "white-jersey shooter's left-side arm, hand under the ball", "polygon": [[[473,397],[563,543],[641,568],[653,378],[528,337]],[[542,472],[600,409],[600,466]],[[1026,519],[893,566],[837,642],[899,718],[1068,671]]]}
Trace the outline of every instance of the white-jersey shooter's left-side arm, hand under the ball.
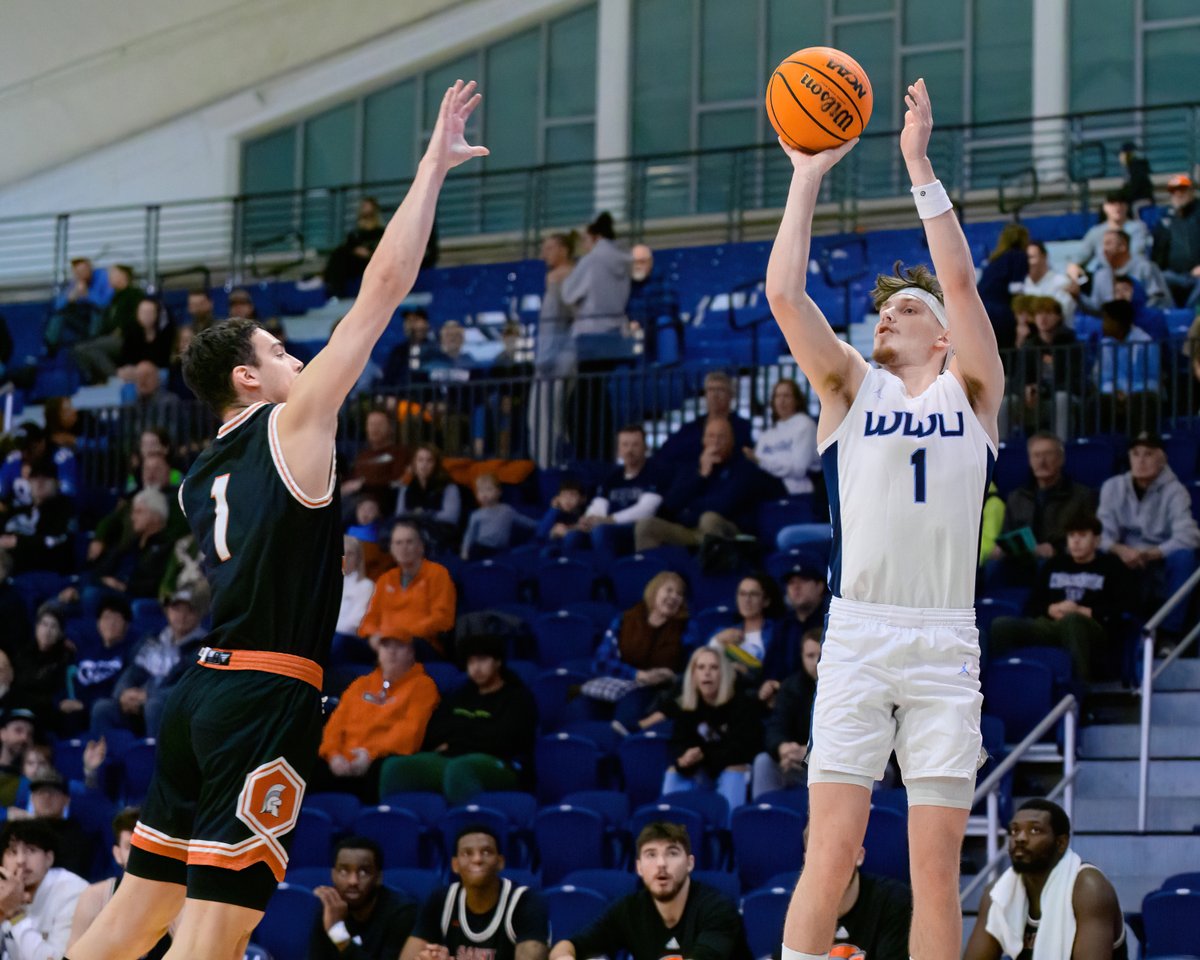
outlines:
{"label": "white-jersey shooter's left-side arm, hand under the ball", "polygon": [[780,140],[780,146],[792,161],[792,185],[767,263],[767,301],[792,356],[821,397],[822,408],[840,404],[844,410],[848,409],[866,374],[866,361],[853,347],[838,338],[821,308],[812,302],[805,284],[812,211],[817,205],[821,180],[856,143],[857,139],[836,150],[803,154]]}

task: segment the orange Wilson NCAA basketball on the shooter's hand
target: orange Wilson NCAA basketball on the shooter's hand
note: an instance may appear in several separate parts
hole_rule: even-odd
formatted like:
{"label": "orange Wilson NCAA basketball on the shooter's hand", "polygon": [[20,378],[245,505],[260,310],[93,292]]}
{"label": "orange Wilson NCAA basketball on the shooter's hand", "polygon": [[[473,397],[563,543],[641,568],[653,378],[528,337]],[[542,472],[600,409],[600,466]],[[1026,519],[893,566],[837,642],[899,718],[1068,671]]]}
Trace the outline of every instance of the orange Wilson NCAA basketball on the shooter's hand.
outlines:
{"label": "orange Wilson NCAA basketball on the shooter's hand", "polygon": [[806,47],[767,82],[767,116],[788,146],[810,154],[858,137],[871,119],[871,80],[853,56]]}

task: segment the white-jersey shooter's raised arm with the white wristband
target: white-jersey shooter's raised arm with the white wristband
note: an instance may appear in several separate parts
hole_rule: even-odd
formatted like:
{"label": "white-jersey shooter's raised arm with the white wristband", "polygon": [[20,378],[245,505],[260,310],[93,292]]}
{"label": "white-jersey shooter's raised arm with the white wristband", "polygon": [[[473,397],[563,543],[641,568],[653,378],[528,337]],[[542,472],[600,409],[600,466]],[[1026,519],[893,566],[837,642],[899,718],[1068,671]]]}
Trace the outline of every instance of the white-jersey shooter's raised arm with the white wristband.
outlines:
{"label": "white-jersey shooter's raised arm with the white wristband", "polygon": [[[946,191],[934,176],[934,164],[929,162],[926,155],[929,137],[934,132],[934,112],[924,80],[917,80],[908,86],[905,103],[908,104],[908,110],[905,113],[904,130],[900,132],[900,152],[908,167],[917,209],[922,210],[923,203],[934,203],[935,194],[940,194],[943,199],[946,197]],[[922,193],[922,187],[931,186],[931,190]],[[946,209],[935,216],[925,218],[926,214],[923,214],[922,222],[925,224],[934,272],[937,274],[937,282],[942,284],[946,299],[950,346],[954,348],[950,372],[959,378],[972,408],[992,440],[996,440],[998,433],[996,418],[1004,397],[1004,367],[1000,361],[996,331],[992,330],[988,311],[984,310],[976,288],[971,247],[967,246],[962,227],[948,199],[944,200],[944,206]]]}

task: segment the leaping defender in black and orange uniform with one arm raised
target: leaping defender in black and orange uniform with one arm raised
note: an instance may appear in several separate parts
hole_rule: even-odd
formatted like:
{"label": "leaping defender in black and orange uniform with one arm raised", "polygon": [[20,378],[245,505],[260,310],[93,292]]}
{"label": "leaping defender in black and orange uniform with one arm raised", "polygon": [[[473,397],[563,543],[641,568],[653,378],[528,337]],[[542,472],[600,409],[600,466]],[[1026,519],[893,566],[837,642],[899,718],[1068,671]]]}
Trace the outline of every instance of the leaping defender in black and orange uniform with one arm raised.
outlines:
{"label": "leaping defender in black and orange uniform with one arm raised", "polygon": [[342,589],[337,413],[412,289],[446,173],[487,154],[463,134],[479,101],[474,83],[446,91],[358,300],[307,367],[251,320],[209,328],[184,358],[223,421],[180,487],[212,629],[164,709],[125,881],[73,960],[142,956],[176,914],[168,960],[240,959],[283,878]]}

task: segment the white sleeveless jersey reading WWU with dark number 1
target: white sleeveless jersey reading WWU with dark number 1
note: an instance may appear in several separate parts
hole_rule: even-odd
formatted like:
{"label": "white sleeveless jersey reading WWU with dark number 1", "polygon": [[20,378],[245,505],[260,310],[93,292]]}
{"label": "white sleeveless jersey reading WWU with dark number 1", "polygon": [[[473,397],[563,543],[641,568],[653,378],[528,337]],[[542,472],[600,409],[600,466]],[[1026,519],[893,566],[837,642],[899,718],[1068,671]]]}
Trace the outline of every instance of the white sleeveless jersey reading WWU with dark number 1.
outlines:
{"label": "white sleeveless jersey reading WWU with dark number 1", "polygon": [[974,605],[979,522],[996,449],[949,372],[917,397],[871,367],[820,446],[834,596],[904,607]]}

